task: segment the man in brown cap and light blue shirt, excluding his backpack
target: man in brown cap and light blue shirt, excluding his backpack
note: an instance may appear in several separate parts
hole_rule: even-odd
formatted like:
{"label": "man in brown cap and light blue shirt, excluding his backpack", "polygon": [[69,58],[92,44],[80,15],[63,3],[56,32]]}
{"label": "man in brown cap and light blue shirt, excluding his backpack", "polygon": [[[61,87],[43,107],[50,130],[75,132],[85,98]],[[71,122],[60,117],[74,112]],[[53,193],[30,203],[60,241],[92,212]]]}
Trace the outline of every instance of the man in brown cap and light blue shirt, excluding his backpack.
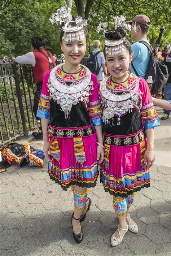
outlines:
{"label": "man in brown cap and light blue shirt, excluding his backpack", "polygon": [[131,39],[135,41],[135,43],[131,45],[133,55],[131,72],[141,78],[145,78],[151,53],[148,48],[140,42],[145,41],[150,45],[147,40],[150,19],[144,14],[138,14],[131,21],[127,21],[127,23],[130,23],[131,26],[136,25],[136,31],[131,29]]}

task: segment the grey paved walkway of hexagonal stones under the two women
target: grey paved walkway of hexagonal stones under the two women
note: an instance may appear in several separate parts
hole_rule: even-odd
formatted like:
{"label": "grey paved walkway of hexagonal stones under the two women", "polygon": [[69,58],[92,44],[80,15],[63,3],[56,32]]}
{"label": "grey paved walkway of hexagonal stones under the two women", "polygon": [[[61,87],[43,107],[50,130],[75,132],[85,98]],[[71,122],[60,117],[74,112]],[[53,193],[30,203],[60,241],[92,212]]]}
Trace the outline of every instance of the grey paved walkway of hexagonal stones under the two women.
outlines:
{"label": "grey paved walkway of hexagonal stones under the two women", "polygon": [[84,240],[76,244],[70,223],[72,195],[49,180],[47,160],[44,168],[16,164],[0,174],[0,255],[170,255],[170,120],[155,129],[150,188],[138,192],[131,206],[138,234],[128,231],[119,246],[111,247],[118,220],[109,193],[98,181],[90,194],[91,211],[82,222]]}

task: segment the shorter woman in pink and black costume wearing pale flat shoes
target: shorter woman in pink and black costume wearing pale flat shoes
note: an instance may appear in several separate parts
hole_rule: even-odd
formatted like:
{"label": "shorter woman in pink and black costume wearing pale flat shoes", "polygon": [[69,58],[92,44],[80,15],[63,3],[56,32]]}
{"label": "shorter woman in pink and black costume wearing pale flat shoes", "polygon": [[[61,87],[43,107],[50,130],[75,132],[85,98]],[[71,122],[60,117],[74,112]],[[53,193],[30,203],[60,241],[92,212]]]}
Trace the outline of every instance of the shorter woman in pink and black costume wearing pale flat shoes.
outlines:
{"label": "shorter woman in pink and black costume wearing pale flat shoes", "polygon": [[138,232],[129,209],[134,193],[150,186],[154,127],[159,125],[159,120],[145,79],[128,72],[132,53],[124,29],[136,26],[127,25],[123,16],[115,17],[111,23],[112,31],[105,31],[107,23],[97,27],[98,32],[104,30],[104,55],[110,74],[100,84],[105,147],[101,181],[105,191],[113,195],[113,207],[119,219],[118,229],[111,237],[111,245],[117,246],[128,229]]}

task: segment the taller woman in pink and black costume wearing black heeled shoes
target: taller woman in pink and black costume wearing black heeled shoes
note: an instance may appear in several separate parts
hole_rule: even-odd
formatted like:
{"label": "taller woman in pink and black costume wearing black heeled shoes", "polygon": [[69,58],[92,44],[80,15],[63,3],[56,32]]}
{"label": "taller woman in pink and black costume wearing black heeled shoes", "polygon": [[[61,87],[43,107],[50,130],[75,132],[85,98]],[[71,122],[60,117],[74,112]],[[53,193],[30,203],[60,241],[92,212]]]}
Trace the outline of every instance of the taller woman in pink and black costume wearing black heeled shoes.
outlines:
{"label": "taller woman in pink and black costume wearing black heeled shoes", "polygon": [[80,243],[80,222],[91,205],[88,188],[96,186],[97,162],[104,159],[102,108],[97,77],[80,65],[86,52],[87,21],[72,17],[65,7],[52,15],[52,23],[59,20],[63,22],[61,49],[65,64],[45,74],[37,116],[41,117],[50,178],[63,190],[73,190],[75,208],[71,224],[74,239]]}

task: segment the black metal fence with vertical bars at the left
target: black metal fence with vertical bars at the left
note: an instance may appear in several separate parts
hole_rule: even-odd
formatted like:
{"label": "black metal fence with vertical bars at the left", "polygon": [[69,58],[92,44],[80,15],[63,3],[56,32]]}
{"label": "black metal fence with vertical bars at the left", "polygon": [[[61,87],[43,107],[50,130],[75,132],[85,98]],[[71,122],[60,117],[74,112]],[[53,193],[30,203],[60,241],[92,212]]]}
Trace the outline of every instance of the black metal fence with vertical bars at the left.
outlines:
{"label": "black metal fence with vertical bars at the left", "polygon": [[[57,60],[61,64],[63,60]],[[86,65],[87,57],[81,64]],[[0,147],[36,128],[33,99],[36,90],[30,65],[0,64]]]}

